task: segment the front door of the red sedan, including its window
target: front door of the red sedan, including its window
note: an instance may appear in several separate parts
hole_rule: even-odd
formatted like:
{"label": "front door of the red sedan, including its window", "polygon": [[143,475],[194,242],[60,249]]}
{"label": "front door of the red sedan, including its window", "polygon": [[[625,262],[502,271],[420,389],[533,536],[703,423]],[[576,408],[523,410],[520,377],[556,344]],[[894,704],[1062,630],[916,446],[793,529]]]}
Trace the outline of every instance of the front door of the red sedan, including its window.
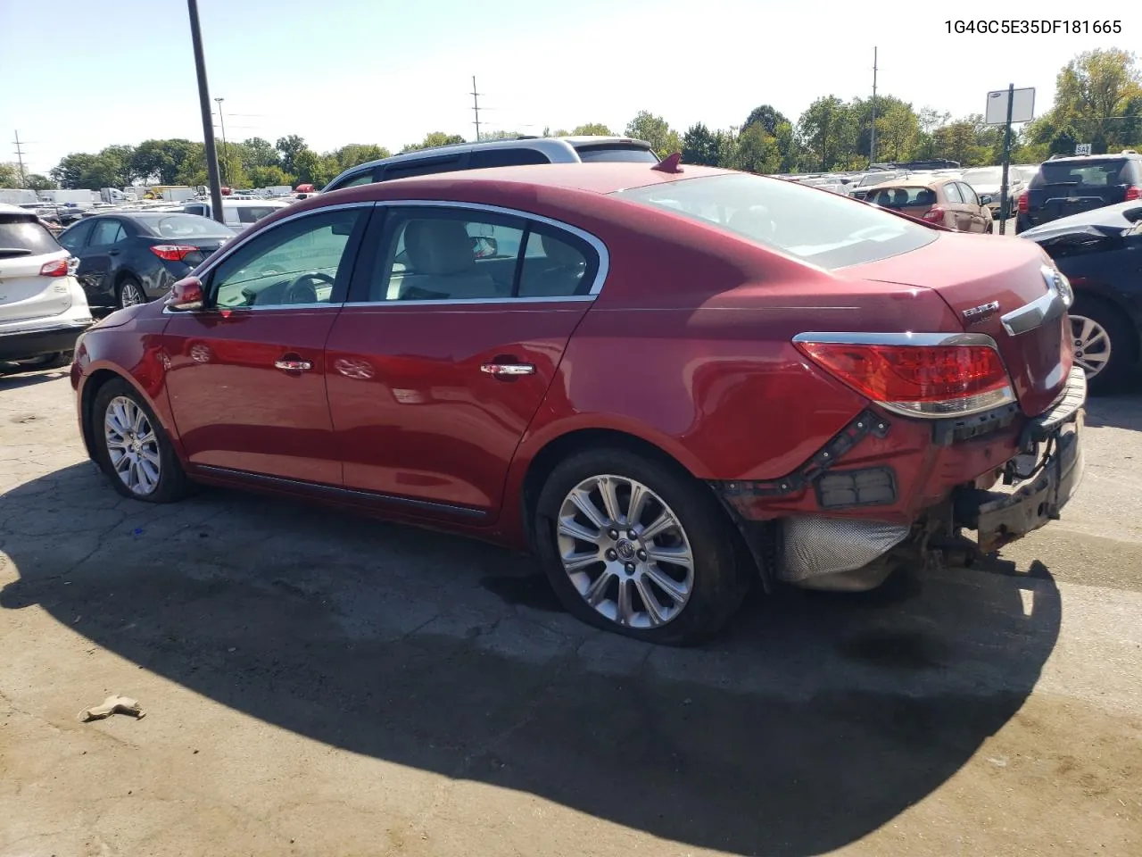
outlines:
{"label": "front door of the red sedan, including its window", "polygon": [[170,313],[167,390],[193,464],[340,484],[324,347],[370,208],[274,225],[206,274],[204,310]]}

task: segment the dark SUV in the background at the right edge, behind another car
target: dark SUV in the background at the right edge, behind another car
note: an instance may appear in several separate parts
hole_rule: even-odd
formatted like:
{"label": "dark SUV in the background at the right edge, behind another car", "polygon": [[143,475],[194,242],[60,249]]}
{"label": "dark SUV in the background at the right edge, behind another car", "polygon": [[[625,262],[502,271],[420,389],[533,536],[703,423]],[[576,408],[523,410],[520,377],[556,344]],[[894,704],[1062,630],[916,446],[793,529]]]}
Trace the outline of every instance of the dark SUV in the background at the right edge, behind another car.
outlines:
{"label": "dark SUV in the background at the right edge, behind another car", "polygon": [[1044,161],[1019,198],[1019,231],[1142,198],[1142,155],[1086,154]]}

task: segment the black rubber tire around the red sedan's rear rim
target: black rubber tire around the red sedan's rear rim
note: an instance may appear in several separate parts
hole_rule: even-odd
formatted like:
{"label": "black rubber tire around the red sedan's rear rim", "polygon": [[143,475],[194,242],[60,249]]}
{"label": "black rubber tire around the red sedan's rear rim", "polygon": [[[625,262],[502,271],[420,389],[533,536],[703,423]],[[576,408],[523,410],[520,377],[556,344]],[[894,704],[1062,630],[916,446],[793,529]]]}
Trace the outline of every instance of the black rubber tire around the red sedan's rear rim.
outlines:
{"label": "black rubber tire around the red sedan's rear rim", "polygon": [[[564,570],[556,535],[561,506],[573,488],[604,474],[636,480],[658,495],[673,511],[690,543],[693,556],[690,595],[665,624],[633,627],[602,615],[587,603]],[[544,570],[568,612],[589,625],[625,636],[667,646],[703,642],[717,634],[733,616],[749,588],[751,578],[739,550],[740,536],[710,490],[677,465],[626,449],[582,450],[558,464],[539,495],[534,527],[536,547]],[[638,556],[645,559],[642,553]],[[621,561],[618,564],[621,566]],[[601,575],[602,562],[596,568]],[[620,571],[614,578],[621,576]],[[633,580],[630,586],[633,590]],[[642,594],[638,594],[638,602],[643,603]],[[642,612],[649,618],[651,611],[644,606]]]}

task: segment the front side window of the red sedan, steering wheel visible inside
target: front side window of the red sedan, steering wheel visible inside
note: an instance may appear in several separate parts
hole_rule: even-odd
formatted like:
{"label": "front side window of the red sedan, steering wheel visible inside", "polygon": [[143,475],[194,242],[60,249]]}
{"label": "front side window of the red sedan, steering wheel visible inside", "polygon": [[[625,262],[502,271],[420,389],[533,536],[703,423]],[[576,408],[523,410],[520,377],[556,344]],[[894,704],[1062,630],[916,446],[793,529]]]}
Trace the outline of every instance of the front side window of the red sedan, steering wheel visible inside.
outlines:
{"label": "front side window of the red sedan, steering wheel visible inside", "polygon": [[345,248],[360,211],[352,208],[314,214],[262,233],[215,269],[209,303],[238,309],[340,299],[348,275],[343,264]]}

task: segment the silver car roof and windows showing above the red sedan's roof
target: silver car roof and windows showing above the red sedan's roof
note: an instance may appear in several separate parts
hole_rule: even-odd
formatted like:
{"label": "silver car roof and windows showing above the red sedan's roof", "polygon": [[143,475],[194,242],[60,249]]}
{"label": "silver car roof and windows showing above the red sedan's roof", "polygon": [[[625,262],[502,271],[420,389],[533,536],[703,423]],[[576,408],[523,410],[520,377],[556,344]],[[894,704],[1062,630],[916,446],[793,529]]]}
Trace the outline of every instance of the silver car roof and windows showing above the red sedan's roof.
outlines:
{"label": "silver car roof and windows showing above the red sedan's roof", "polygon": [[645,161],[657,163],[650,143],[629,137],[518,137],[484,143],[458,143],[395,154],[349,167],[325,185],[323,193],[356,184],[394,178],[453,173],[485,167],[520,167],[528,163],[581,163],[585,161]]}

